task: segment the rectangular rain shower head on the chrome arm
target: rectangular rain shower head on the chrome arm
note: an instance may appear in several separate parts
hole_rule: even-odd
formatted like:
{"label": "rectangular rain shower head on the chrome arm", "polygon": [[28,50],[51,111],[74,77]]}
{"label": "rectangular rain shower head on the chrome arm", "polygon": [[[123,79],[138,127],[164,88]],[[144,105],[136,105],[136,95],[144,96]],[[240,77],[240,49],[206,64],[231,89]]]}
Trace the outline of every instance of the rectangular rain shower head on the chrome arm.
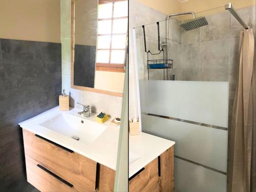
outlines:
{"label": "rectangular rain shower head on the chrome arm", "polygon": [[184,22],[180,23],[180,27],[182,27],[186,31],[196,29],[196,28],[199,28],[199,27],[203,27],[203,26],[206,26],[206,25],[208,25],[208,22],[207,22],[205,16],[185,20]]}

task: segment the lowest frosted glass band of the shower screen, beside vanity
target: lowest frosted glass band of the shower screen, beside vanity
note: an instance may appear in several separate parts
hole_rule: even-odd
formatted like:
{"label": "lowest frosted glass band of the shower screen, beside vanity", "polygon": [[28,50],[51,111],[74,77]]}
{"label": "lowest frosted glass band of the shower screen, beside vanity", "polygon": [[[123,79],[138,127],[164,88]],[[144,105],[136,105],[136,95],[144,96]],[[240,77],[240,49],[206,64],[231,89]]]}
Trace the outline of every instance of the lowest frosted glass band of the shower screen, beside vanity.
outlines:
{"label": "lowest frosted glass band of the shower screen, beside vanity", "polygon": [[226,192],[226,175],[174,158],[175,192]]}

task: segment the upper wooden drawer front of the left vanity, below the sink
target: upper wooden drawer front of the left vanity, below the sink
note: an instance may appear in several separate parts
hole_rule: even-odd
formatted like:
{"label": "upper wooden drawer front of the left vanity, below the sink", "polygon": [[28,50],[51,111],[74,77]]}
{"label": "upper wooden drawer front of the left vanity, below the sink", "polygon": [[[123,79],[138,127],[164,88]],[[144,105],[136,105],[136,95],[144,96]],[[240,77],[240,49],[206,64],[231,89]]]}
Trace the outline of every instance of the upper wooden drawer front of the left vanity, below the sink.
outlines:
{"label": "upper wooden drawer front of the left vanity, below the sink", "polygon": [[97,162],[29,131],[23,130],[23,137],[26,159],[33,159],[81,191],[95,191]]}

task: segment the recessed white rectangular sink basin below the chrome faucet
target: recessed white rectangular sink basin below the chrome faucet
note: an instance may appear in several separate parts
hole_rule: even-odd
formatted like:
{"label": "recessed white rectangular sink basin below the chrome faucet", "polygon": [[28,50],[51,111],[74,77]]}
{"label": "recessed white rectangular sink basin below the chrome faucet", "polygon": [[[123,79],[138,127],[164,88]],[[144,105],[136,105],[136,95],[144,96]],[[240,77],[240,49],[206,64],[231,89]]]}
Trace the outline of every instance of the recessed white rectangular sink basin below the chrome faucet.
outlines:
{"label": "recessed white rectangular sink basin below the chrome faucet", "polygon": [[40,123],[40,125],[84,144],[92,143],[106,130],[107,127],[106,125],[67,113],[58,114],[57,116]]}

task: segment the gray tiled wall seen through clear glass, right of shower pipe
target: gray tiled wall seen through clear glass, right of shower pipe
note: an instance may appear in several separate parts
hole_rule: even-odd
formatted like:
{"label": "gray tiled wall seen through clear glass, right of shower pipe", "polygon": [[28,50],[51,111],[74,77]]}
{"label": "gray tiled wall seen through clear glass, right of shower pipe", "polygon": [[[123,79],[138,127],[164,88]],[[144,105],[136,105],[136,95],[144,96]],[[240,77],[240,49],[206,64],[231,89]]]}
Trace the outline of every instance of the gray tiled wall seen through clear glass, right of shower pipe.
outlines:
{"label": "gray tiled wall seen through clear glass, right of shower pipe", "polygon": [[[181,29],[180,52],[173,52],[170,45],[176,80],[228,81],[230,14],[223,12],[206,19],[207,26],[191,31]],[[175,59],[176,54],[180,55],[180,62]]]}

